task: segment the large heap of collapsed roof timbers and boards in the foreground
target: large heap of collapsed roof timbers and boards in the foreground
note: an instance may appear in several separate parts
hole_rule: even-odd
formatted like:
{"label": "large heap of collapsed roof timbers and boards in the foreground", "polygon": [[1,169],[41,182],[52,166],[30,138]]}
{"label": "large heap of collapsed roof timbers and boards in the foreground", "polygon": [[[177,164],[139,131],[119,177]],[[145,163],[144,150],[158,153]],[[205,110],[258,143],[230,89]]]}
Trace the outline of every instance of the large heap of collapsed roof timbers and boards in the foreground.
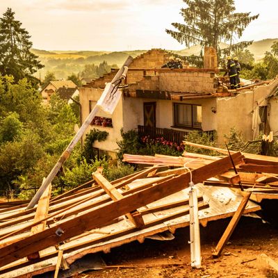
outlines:
{"label": "large heap of collapsed roof timbers and boards in the foreground", "polygon": [[0,206],[0,277],[48,271],[58,277],[60,268],[69,268],[85,254],[109,252],[133,240],[142,243],[163,231],[173,234],[190,224],[190,181],[197,188],[203,226],[233,216],[215,256],[240,215],[261,209],[249,200],[251,194],[256,201],[278,198],[278,158],[234,152],[222,157],[126,154],[124,159],[151,166],[112,182],[95,172],[92,181],[54,198],[50,185],[35,208]]}

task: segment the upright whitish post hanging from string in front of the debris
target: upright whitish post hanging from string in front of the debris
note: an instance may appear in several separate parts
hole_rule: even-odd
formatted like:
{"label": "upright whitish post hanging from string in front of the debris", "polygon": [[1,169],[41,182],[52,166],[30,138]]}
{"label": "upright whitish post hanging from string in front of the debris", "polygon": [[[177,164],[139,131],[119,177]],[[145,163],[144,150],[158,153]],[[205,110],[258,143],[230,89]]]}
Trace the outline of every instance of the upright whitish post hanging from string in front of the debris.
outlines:
{"label": "upright whitish post hanging from string in front of the debris", "polygon": [[198,198],[194,183],[189,183],[189,212],[190,212],[190,259],[191,267],[201,268],[201,244],[199,236]]}

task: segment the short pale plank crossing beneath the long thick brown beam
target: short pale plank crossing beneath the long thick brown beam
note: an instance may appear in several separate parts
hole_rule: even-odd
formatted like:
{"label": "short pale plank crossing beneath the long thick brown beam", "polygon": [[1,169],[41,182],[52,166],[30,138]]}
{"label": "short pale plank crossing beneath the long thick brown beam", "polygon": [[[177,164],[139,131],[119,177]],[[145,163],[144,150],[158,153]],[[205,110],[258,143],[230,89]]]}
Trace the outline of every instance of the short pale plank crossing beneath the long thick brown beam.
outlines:
{"label": "short pale plank crossing beneath the long thick brown beam", "polygon": [[[94,172],[92,177],[111,197],[111,199],[113,199],[113,201],[118,201],[123,198],[123,195],[107,179],[105,179],[100,172]],[[126,213],[126,217],[129,218],[131,223],[133,223],[136,227],[144,227],[144,220],[142,220],[142,215],[138,211]]]}

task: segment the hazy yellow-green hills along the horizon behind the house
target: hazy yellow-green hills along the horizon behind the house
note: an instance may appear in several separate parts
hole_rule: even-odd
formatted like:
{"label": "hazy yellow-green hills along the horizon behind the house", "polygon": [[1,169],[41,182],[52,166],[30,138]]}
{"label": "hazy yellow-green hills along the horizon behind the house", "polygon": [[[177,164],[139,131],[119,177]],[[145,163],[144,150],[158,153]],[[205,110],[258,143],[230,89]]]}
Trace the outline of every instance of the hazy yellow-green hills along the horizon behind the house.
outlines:
{"label": "hazy yellow-green hills along the horizon behind the house", "polygon": [[[270,51],[271,45],[277,39],[265,39],[253,42],[248,47],[252,54],[254,54],[255,60],[261,60],[265,51]],[[222,47],[227,47],[227,44],[222,44]],[[148,50],[148,49],[147,49]],[[40,49],[32,49],[33,53],[38,55],[44,68],[37,72],[36,76],[44,79],[45,74],[54,72],[57,79],[66,79],[72,73],[82,72],[86,64],[95,64],[106,60],[108,65],[120,66],[124,63],[127,56],[133,58],[144,53],[147,50],[133,50],[133,51],[46,51]],[[171,51],[171,50],[169,50]],[[189,49],[181,49],[179,51],[172,51],[173,53],[190,56],[192,54],[199,55],[201,47],[199,45],[190,47]]]}

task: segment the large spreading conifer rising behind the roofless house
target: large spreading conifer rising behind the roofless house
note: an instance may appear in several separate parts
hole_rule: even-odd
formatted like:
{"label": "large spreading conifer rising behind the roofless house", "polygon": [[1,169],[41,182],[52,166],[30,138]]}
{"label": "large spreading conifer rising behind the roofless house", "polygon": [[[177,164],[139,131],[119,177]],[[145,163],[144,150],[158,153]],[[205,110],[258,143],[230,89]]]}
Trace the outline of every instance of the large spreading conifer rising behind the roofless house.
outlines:
{"label": "large spreading conifer rising behind the roofless house", "polygon": [[[252,20],[259,15],[234,13],[234,0],[183,0],[188,8],[181,8],[185,24],[172,23],[177,31],[166,29],[181,44],[190,47],[201,44],[202,47],[214,47],[220,54],[220,42],[229,42],[230,47],[224,53],[242,50],[252,42],[232,44],[234,36],[238,38]],[[223,50],[222,50],[223,51]]]}

